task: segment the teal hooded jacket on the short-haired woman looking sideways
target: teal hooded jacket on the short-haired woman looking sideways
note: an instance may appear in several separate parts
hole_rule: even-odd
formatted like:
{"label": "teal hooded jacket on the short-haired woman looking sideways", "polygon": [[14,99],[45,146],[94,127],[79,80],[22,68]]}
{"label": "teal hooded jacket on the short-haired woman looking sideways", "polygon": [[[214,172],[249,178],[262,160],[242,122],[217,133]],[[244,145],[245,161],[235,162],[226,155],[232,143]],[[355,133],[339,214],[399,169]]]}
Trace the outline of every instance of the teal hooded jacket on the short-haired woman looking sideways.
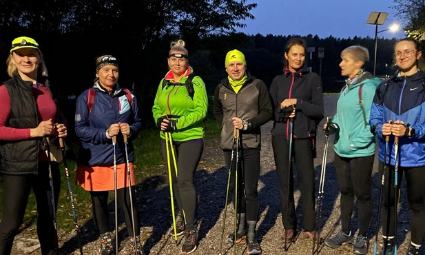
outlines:
{"label": "teal hooded jacket on the short-haired woman looking sideways", "polygon": [[[375,137],[370,130],[369,116],[373,96],[381,80],[373,78],[369,73],[365,73],[364,77],[370,79],[362,79],[351,85],[346,84],[342,88],[337,103],[337,113],[333,116],[332,122],[339,126],[338,132],[335,133],[333,148],[341,157],[356,158],[375,154]],[[364,112],[360,107],[360,85],[362,85]]]}

